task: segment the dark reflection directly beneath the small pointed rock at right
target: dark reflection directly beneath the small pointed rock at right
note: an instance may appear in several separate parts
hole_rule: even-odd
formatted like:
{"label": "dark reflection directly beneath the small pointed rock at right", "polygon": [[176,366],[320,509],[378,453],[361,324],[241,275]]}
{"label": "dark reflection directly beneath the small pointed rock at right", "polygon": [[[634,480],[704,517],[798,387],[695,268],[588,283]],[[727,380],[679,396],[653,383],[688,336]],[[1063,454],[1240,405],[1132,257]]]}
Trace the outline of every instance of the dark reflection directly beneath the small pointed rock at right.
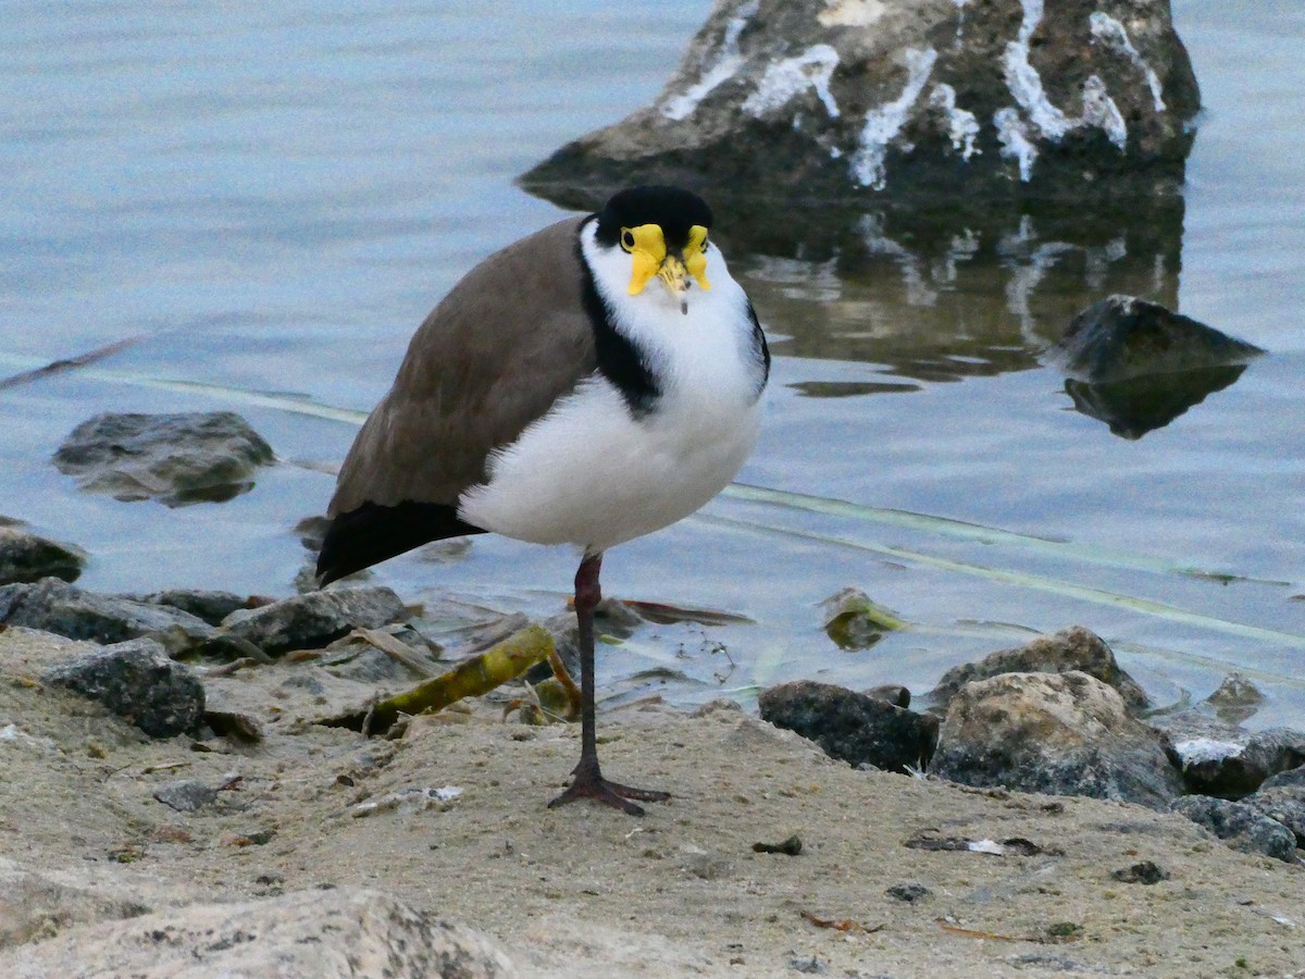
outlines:
{"label": "dark reflection directly beneath the small pointed rock at right", "polygon": [[1223,390],[1246,369],[1246,364],[1225,364],[1181,373],[1148,375],[1126,381],[1090,384],[1065,380],[1074,407],[1090,418],[1105,422],[1121,439],[1141,439],[1163,428],[1207,394]]}

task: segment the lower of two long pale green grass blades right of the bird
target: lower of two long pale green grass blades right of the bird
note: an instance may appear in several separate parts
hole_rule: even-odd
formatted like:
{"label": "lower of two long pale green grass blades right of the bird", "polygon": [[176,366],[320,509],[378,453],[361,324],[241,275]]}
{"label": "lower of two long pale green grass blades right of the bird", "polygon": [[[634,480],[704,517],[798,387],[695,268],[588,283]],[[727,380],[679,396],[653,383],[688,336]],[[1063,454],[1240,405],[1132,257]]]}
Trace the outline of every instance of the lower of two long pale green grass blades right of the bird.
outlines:
{"label": "lower of two long pale green grass blades right of the bird", "polygon": [[852,551],[867,551],[869,553],[877,553],[885,557],[891,557],[893,560],[897,561],[919,564],[928,568],[938,568],[941,570],[955,572],[959,574],[970,574],[974,577],[987,578],[988,581],[996,581],[1005,585],[1015,585],[1018,587],[1032,589],[1035,591],[1048,591],[1051,594],[1061,595],[1064,598],[1074,598],[1083,602],[1091,602],[1094,604],[1125,608],[1131,612],[1138,612],[1141,615],[1148,615],[1172,623],[1181,623],[1184,625],[1194,625],[1203,629],[1211,629],[1214,632],[1221,632],[1229,636],[1240,636],[1242,638],[1259,640],[1262,642],[1271,642],[1278,646],[1305,649],[1305,636],[1298,636],[1291,632],[1279,632],[1276,629],[1266,629],[1259,625],[1246,625],[1245,623],[1235,623],[1227,619],[1218,619],[1211,615],[1202,615],[1201,612],[1190,612],[1185,608],[1178,608],[1177,606],[1165,604],[1163,602],[1155,602],[1148,598],[1134,598],[1131,595],[1121,595],[1116,591],[1107,591],[1104,589],[1096,589],[1088,585],[1077,585],[1071,581],[1048,578],[1040,574],[1030,574],[1027,572],[1013,572],[1013,570],[1001,570],[998,568],[987,568],[981,564],[970,564],[968,561],[957,561],[949,557],[936,557],[933,555],[920,553],[919,551],[908,551],[903,547],[889,547],[886,544],[868,544],[859,540],[848,540],[846,538],[834,536],[831,534],[817,534],[806,530],[793,530],[791,527],[779,527],[770,523],[758,523],[756,521],[735,520],[732,517],[716,517],[699,513],[697,514],[697,520],[722,527],[732,527],[745,533],[750,531],[758,534],[770,534],[775,536],[797,538],[800,540],[816,540],[823,544],[843,547]]}

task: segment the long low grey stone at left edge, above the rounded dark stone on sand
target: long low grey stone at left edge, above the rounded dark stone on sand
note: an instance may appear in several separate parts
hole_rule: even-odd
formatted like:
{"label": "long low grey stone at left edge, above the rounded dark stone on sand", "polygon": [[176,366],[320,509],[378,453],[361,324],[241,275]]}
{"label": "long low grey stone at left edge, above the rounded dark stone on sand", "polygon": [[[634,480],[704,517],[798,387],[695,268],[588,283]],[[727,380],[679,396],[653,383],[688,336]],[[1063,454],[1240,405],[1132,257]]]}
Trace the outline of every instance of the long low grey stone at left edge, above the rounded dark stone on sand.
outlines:
{"label": "long low grey stone at left edge, above the rounded dark stone on sand", "polygon": [[150,637],[171,653],[217,634],[206,621],[179,608],[98,595],[59,578],[0,586],[0,623],[99,644]]}

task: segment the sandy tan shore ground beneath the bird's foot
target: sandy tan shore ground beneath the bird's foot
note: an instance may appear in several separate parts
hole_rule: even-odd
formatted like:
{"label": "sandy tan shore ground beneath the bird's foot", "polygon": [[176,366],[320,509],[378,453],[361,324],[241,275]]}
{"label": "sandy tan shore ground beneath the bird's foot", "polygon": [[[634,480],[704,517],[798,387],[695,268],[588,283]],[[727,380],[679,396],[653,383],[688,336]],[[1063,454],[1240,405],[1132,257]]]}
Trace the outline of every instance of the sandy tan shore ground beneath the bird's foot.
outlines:
{"label": "sandy tan shore ground beneath the bird's foot", "polygon": [[[365,886],[485,932],[540,976],[1305,975],[1305,869],[1176,816],[856,771],[729,705],[604,714],[606,771],[675,798],[643,818],[551,811],[577,726],[504,723],[478,701],[367,740],[308,723],[329,694],[315,667],[278,664],[207,681],[264,741],[197,751],[37,683],[70,649],[0,633],[0,878],[151,910]],[[174,779],[227,787],[183,815],[153,798]],[[446,787],[461,792],[395,796]],[[753,850],[795,834],[796,856]],[[920,843],[938,838],[1021,842]],[[1168,878],[1114,878],[1146,860]],[[22,961],[13,942],[115,916],[23,914],[0,886],[0,974]]]}

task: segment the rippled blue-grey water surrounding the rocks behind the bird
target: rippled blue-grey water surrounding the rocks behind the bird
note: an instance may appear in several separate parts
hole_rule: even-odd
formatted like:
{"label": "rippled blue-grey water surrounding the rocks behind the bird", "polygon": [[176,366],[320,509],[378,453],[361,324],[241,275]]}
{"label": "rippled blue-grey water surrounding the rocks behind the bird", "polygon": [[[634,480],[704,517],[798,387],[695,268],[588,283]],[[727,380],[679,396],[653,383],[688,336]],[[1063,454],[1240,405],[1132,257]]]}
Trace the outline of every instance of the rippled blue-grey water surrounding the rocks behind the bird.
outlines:
{"label": "rippled blue-grey water surrounding the rocks behind the bird", "polygon": [[[290,409],[368,410],[435,300],[557,217],[513,178],[652,98],[709,7],[8,4],[0,375],[141,339],[0,389],[0,512],[89,550],[86,587],[288,591],[305,560],[294,525],[324,509],[324,470],[354,433]],[[923,691],[1078,623],[1160,701],[1238,668],[1270,694],[1253,724],[1300,723],[1305,14],[1184,0],[1174,16],[1207,107],[1174,206],[985,227],[844,215],[784,240],[773,215],[722,215],[778,355],[740,479],[867,509],[728,497],[615,551],[611,594],[753,624],[646,628],[606,649],[609,692],[693,702],[797,676]],[[1117,437],[1043,365],[1069,317],[1112,291],[1270,355]],[[281,465],[227,504],[120,504],[48,462],[98,411],[228,407]],[[376,577],[544,615],[573,572],[565,551],[480,538],[458,561]],[[817,606],[844,585],[912,628],[837,650]]]}

